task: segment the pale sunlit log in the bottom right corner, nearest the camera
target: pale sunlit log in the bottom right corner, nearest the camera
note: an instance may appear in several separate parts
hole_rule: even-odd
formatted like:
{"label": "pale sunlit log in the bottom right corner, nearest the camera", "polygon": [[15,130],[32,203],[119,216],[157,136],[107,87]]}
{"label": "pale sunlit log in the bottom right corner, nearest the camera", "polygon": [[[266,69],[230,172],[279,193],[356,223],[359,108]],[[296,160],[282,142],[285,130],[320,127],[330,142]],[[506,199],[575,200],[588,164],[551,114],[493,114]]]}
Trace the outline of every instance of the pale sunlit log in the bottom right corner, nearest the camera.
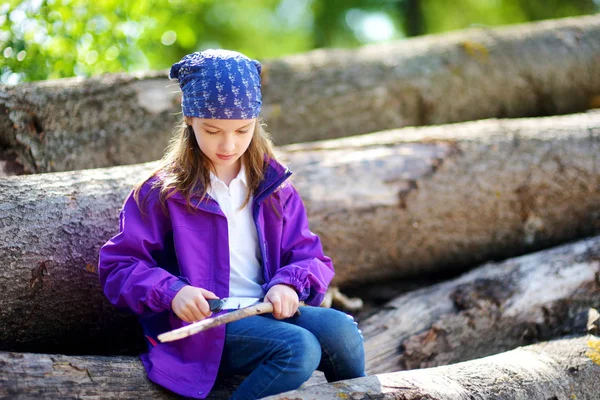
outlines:
{"label": "pale sunlit log in the bottom right corner, nearest the camera", "polygon": [[600,339],[594,337],[562,339],[444,367],[310,386],[265,400],[595,400],[599,349]]}

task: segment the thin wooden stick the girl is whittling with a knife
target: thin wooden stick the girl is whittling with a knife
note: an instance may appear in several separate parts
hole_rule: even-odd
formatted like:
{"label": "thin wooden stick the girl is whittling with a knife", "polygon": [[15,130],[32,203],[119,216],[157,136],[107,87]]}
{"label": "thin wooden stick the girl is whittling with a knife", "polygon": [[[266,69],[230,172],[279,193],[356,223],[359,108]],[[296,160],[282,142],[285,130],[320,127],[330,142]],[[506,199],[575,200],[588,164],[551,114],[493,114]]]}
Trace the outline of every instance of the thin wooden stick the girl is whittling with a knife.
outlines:
{"label": "thin wooden stick the girl is whittling with a knife", "polygon": [[[304,302],[300,302],[299,307],[304,306]],[[169,332],[158,335],[158,340],[161,342],[172,342],[174,340],[183,339],[185,337],[194,335],[198,332],[205,331],[210,328],[214,328],[219,325],[228,324],[233,321],[240,320],[242,318],[251,317],[253,315],[267,314],[273,312],[273,304],[271,303],[260,303],[254,306],[242,308],[227,314],[219,315],[214,318],[207,318],[202,321],[195,322],[191,325],[184,326]],[[297,311],[296,313],[299,313]]]}

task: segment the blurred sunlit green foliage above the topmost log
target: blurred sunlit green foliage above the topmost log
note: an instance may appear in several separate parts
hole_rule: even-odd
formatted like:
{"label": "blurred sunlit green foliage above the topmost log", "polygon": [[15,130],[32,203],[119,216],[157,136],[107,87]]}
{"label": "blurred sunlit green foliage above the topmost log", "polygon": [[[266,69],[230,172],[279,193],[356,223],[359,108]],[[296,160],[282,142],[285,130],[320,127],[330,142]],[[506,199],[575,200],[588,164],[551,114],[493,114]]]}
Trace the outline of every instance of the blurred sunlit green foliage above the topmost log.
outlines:
{"label": "blurred sunlit green foliage above the topmost log", "polygon": [[262,60],[599,11],[600,0],[9,1],[0,81],[157,70],[206,48]]}

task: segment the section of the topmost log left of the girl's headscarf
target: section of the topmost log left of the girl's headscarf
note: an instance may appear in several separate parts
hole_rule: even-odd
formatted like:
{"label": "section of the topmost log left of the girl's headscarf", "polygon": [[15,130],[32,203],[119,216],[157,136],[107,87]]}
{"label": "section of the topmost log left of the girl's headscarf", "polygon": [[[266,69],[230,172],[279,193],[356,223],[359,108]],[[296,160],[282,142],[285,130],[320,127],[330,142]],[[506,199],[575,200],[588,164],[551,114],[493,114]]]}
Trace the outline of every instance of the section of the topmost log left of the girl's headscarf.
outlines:
{"label": "section of the topmost log left of the girl's headscarf", "polygon": [[164,72],[4,87],[0,148],[27,173],[158,160],[181,120],[179,96]]}

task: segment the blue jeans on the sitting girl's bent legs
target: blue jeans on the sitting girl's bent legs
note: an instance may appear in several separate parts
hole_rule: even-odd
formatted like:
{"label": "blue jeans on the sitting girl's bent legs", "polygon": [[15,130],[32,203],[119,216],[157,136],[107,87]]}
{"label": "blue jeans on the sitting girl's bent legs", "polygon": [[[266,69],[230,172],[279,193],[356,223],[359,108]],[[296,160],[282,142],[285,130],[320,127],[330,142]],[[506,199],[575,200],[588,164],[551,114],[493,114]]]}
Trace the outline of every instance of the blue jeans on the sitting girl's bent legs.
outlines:
{"label": "blue jeans on the sitting girl's bent legs", "polygon": [[220,374],[248,375],[231,399],[259,399],[300,387],[315,370],[328,382],[365,376],[363,337],[337,310],[300,307],[299,316],[257,315],[227,325]]}

